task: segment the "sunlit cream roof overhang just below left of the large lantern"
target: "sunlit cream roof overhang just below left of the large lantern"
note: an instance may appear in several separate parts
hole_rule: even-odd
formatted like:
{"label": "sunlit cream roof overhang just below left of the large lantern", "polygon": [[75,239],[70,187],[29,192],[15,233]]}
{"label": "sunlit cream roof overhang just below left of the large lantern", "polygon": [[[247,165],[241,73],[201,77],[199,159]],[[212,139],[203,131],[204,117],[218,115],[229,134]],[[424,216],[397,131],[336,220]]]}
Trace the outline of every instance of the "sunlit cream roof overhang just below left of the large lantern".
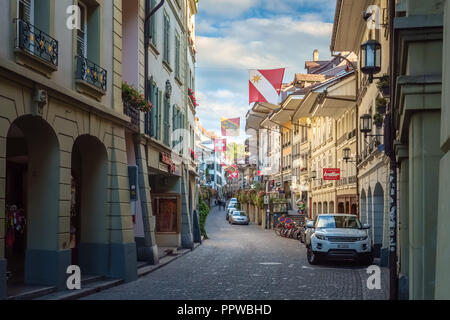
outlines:
{"label": "sunlit cream roof overhang just below left of the large lantern", "polygon": [[354,75],[329,86],[316,104],[313,117],[339,119],[356,105],[356,78]]}

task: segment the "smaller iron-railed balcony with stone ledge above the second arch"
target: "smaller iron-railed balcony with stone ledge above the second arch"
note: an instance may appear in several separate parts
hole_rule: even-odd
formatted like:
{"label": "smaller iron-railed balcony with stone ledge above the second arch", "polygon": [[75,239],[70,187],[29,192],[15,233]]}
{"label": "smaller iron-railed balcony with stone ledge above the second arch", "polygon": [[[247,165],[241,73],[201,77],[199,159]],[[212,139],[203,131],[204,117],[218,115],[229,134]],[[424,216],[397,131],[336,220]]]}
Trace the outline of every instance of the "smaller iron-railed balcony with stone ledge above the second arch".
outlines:
{"label": "smaller iron-railed balcony with stone ledge above the second arch", "polygon": [[106,94],[107,71],[82,56],[77,56],[77,90],[97,100]]}

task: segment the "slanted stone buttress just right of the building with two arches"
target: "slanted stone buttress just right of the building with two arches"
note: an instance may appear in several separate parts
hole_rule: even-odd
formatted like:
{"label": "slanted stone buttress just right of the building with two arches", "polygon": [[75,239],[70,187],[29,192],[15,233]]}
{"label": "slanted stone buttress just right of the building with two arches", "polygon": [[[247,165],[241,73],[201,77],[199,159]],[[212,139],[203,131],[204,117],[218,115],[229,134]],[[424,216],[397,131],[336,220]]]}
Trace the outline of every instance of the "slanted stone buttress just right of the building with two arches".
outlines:
{"label": "slanted stone buttress just right of the building with two arches", "polygon": [[158,246],[156,245],[155,217],[151,202],[151,188],[148,181],[148,168],[145,153],[145,139],[135,136],[136,165],[138,166],[139,200],[141,201],[144,238],[136,238],[137,259],[149,264],[158,264]]}

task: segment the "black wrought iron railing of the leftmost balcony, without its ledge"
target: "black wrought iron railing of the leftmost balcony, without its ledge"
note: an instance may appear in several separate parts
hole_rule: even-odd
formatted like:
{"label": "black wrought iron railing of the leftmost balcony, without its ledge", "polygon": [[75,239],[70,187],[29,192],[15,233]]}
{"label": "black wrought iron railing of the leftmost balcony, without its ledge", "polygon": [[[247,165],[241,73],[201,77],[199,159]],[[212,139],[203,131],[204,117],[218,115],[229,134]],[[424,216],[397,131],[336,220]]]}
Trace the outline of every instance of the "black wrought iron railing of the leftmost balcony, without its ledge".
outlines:
{"label": "black wrought iron railing of the leftmost balcony, without its ledge", "polygon": [[15,19],[17,26],[16,48],[58,66],[58,41],[27,21]]}

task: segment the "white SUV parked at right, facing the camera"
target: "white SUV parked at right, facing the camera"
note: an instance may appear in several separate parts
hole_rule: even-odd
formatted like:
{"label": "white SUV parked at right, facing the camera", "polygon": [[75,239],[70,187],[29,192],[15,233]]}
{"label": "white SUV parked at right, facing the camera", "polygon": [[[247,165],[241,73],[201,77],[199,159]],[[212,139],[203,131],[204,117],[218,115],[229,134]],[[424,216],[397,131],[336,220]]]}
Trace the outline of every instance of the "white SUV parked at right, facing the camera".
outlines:
{"label": "white SUV parked at right, facing the camera", "polygon": [[305,245],[310,264],[323,258],[373,262],[372,241],[358,217],[350,214],[322,214],[306,224]]}

